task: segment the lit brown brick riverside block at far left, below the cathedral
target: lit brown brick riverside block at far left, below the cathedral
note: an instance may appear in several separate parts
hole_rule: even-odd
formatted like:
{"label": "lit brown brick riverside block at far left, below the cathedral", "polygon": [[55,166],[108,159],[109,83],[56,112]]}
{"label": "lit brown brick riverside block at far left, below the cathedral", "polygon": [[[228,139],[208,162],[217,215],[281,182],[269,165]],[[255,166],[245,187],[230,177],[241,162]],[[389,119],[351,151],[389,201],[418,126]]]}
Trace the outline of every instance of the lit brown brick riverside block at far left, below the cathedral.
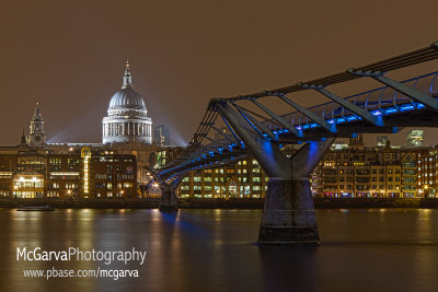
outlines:
{"label": "lit brown brick riverside block at far left, below the cathedral", "polygon": [[70,148],[0,148],[0,197],[138,198],[135,155]]}

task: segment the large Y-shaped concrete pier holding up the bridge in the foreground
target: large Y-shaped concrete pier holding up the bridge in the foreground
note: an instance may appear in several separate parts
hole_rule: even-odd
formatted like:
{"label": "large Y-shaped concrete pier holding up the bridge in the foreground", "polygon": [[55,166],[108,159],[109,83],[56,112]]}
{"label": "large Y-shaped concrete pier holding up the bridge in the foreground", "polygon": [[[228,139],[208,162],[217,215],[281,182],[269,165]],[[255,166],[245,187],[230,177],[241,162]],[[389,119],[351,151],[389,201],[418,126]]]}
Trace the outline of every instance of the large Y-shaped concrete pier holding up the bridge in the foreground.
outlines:
{"label": "large Y-shaped concrete pier holding up the bridge in the foreground", "polygon": [[227,102],[219,102],[216,107],[270,177],[258,244],[319,244],[309,176],[334,139],[307,142],[289,159],[277,143],[257,132],[247,121],[247,114],[243,118]]}

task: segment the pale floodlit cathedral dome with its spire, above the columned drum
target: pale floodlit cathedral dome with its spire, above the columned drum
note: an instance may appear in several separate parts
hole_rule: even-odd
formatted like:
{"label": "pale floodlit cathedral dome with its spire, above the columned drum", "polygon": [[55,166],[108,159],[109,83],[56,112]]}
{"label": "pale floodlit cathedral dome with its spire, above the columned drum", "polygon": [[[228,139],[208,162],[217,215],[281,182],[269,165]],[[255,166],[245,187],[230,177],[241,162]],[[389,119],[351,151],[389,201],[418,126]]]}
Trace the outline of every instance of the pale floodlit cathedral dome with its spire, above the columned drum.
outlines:
{"label": "pale floodlit cathedral dome with its spire, above the columned drum", "polygon": [[129,62],[126,62],[122,90],[117,91],[111,98],[108,110],[112,109],[146,110],[143,98],[141,98],[140,94],[132,87]]}

